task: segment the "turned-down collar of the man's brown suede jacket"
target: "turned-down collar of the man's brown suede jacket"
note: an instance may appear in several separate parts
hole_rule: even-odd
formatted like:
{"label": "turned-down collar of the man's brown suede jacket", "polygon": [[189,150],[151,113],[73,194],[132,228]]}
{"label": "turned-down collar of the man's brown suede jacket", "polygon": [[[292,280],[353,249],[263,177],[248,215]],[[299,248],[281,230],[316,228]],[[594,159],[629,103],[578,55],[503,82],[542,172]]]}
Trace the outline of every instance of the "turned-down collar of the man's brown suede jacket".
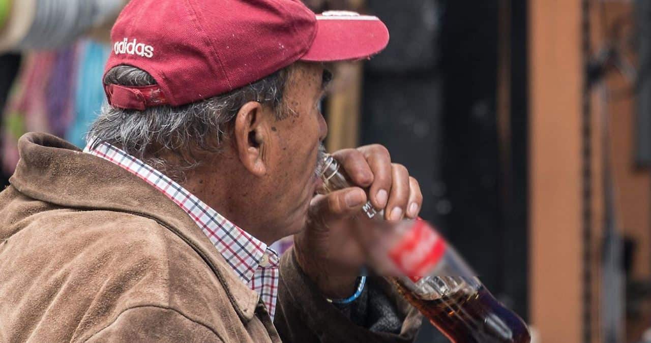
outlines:
{"label": "turned-down collar of the man's brown suede jacket", "polygon": [[33,199],[80,210],[128,212],[157,221],[210,266],[240,318],[255,315],[258,295],[230,270],[223,256],[183,210],[137,176],[46,133],[18,141],[20,161],[11,184]]}

